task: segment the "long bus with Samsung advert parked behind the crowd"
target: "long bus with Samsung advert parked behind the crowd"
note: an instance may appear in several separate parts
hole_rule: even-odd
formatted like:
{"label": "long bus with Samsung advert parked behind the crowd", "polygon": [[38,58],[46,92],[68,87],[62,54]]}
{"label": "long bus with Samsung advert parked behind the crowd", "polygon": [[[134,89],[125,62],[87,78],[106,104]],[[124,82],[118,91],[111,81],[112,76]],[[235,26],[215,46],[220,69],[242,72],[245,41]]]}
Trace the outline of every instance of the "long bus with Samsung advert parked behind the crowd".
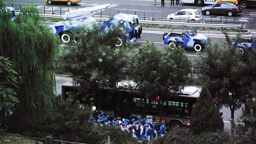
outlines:
{"label": "long bus with Samsung advert parked behind the crowd", "polygon": [[[118,83],[118,89],[103,89],[98,92],[102,98],[100,101],[101,112],[104,112],[105,115],[109,115],[111,118],[118,116],[122,118],[141,117],[142,119],[146,118],[150,122],[154,119],[156,124],[160,124],[160,107],[158,105],[159,101],[157,101],[159,97],[156,96],[156,100],[150,100],[133,89],[125,88],[127,84],[134,86],[132,81],[125,81]],[[73,87],[70,81],[62,85],[62,96],[64,99],[73,91]],[[160,101],[163,104],[162,121],[164,124],[166,126],[190,125],[191,112],[200,92],[201,88],[188,86],[181,93],[172,96],[168,101]],[[84,104],[84,102],[98,104],[94,98],[88,97],[90,94],[85,95],[87,98],[79,100],[81,104]],[[96,105],[96,107],[98,106]]]}

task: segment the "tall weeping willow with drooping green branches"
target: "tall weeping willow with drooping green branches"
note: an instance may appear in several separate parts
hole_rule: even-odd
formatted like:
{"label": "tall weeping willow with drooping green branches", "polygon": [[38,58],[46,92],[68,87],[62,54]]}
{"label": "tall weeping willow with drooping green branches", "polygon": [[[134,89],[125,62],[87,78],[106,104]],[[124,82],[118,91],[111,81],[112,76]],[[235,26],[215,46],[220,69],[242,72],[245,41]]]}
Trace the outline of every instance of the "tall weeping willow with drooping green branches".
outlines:
{"label": "tall weeping willow with drooping green branches", "polygon": [[[0,6],[5,4],[0,0]],[[2,15],[5,17],[5,14]],[[15,23],[0,22],[0,55],[9,57],[18,73],[15,124],[35,127],[55,109],[55,78],[51,72],[59,38],[40,23],[33,6],[21,10]]]}

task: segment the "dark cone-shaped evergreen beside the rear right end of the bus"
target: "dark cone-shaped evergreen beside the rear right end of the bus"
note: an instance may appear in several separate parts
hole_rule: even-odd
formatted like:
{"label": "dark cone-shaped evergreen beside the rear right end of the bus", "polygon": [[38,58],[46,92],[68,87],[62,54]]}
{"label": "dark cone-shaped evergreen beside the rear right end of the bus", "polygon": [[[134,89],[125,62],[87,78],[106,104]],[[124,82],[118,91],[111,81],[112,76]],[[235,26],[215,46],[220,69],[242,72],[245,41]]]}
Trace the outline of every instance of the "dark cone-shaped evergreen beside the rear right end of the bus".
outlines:
{"label": "dark cone-shaped evergreen beside the rear right end of the bus", "polygon": [[212,101],[209,91],[203,87],[197,99],[190,118],[190,128],[194,133],[214,132],[223,130],[222,121],[218,107]]}

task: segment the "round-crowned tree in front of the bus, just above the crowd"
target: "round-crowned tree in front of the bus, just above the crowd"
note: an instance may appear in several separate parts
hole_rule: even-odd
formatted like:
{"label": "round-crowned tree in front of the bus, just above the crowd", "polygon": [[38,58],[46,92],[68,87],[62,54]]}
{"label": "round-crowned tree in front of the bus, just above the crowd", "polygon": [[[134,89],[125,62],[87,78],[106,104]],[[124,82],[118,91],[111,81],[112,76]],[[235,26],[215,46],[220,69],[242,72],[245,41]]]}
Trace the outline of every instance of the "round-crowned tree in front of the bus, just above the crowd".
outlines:
{"label": "round-crowned tree in front of the bus, just above the crowd", "polygon": [[139,93],[155,103],[157,101],[161,117],[164,103],[160,101],[168,101],[174,96],[171,92],[183,89],[190,70],[190,61],[180,46],[162,52],[147,41],[132,58],[131,76]]}

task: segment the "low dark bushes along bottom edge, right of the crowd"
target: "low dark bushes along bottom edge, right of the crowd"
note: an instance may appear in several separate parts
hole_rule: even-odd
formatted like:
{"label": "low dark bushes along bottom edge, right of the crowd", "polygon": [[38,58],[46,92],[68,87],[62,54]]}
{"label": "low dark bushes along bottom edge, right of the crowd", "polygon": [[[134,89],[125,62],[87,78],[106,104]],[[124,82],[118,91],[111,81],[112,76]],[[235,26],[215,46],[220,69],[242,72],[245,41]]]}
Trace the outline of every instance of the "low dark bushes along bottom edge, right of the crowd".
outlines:
{"label": "low dark bushes along bottom edge, right of the crowd", "polygon": [[186,128],[174,128],[151,144],[242,144],[240,138],[222,131],[193,134]]}

